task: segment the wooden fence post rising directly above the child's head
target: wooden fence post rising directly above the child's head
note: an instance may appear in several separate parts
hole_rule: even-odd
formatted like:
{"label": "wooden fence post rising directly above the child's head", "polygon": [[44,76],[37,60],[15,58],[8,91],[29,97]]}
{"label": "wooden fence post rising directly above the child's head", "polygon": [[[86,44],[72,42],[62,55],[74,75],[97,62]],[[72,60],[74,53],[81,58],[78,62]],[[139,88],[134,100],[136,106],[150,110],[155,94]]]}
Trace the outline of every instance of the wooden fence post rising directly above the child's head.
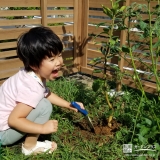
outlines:
{"label": "wooden fence post rising directly above the child's head", "polygon": [[42,26],[47,26],[47,0],[40,0],[41,1],[41,24]]}

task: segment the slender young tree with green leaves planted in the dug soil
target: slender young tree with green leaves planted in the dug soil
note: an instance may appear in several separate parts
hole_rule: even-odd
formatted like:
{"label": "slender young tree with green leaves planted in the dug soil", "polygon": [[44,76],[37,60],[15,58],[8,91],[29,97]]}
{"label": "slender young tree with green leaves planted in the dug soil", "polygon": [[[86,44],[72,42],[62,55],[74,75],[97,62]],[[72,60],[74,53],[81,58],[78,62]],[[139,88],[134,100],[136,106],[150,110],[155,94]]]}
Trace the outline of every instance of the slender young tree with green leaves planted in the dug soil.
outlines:
{"label": "slender young tree with green leaves planted in the dug soil", "polygon": [[[116,31],[116,29],[120,29],[122,28],[122,22],[121,22],[121,18],[122,18],[122,13],[125,10],[125,6],[120,7],[119,6],[119,2],[120,0],[117,0],[115,2],[111,1],[111,9],[102,5],[102,9],[103,9],[103,13],[106,14],[110,19],[111,19],[111,24],[110,25],[106,25],[106,23],[100,23],[97,25],[97,27],[100,26],[106,26],[105,28],[103,28],[103,32],[101,32],[100,34],[96,35],[94,37],[94,39],[96,39],[98,36],[100,35],[106,35],[107,39],[106,42],[101,42],[101,53],[102,53],[102,57],[97,57],[94,58],[90,64],[93,65],[93,67],[95,67],[98,64],[103,64],[103,70],[101,69],[94,69],[93,73],[103,73],[103,83],[101,83],[101,85],[103,85],[103,94],[105,95],[107,104],[109,106],[109,108],[112,110],[111,115],[108,118],[108,126],[111,127],[111,121],[113,119],[113,114],[114,114],[114,108],[112,106],[112,104],[109,101],[109,95],[108,95],[108,91],[109,91],[109,86],[107,85],[107,80],[108,77],[106,75],[107,69],[108,67],[111,67],[115,70],[115,75],[116,75],[116,79],[120,79],[120,74],[119,73],[119,68],[113,65],[109,65],[108,59],[113,58],[115,55],[118,55],[119,52],[121,51],[121,47],[120,47],[120,42],[119,42],[119,37],[114,36],[114,32]],[[118,21],[118,23],[117,23]],[[100,82],[100,81],[99,81]],[[95,83],[95,85],[97,85]],[[97,88],[98,89],[98,88]],[[96,90],[95,90],[96,91]]]}

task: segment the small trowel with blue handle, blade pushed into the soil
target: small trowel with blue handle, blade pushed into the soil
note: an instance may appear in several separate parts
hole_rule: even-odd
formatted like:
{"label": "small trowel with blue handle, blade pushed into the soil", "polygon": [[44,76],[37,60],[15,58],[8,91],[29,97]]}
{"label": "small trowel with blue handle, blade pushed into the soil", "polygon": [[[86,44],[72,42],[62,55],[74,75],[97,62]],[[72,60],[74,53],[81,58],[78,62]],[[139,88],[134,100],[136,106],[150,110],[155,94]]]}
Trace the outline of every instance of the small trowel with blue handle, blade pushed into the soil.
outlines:
{"label": "small trowel with blue handle, blade pushed into the soil", "polygon": [[88,124],[89,124],[89,127],[90,127],[91,131],[95,133],[95,129],[94,129],[93,123],[92,123],[90,117],[88,116],[87,110],[82,109],[82,108],[80,107],[80,105],[77,104],[76,102],[71,102],[71,105],[72,105],[74,108],[76,108],[80,113],[82,113],[82,114],[84,115],[85,119],[87,120],[87,122],[88,122]]}

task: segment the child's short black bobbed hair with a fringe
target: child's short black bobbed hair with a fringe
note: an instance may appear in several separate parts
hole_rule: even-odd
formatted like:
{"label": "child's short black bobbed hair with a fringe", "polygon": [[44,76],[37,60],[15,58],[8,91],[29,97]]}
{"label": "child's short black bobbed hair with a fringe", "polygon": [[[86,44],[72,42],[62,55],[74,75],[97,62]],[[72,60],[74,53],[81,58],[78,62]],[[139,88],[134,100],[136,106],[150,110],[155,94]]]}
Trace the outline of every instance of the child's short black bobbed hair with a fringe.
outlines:
{"label": "child's short black bobbed hair with a fringe", "polygon": [[27,71],[30,66],[40,66],[43,59],[57,55],[63,50],[59,37],[48,27],[31,28],[17,42],[17,55]]}

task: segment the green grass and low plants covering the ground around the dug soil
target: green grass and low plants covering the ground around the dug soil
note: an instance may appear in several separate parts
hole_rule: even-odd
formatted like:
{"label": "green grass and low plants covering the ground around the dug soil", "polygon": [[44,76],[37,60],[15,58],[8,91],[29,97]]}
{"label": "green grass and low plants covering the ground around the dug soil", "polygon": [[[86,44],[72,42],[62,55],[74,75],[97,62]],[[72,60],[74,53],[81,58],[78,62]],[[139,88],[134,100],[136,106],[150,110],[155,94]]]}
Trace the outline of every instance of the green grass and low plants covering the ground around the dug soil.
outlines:
{"label": "green grass and low plants covering the ground around the dug soil", "polygon": [[[110,115],[110,110],[102,94],[87,89],[84,85],[74,80],[60,78],[48,82],[48,87],[54,93],[67,101],[83,102],[95,125],[101,123]],[[133,145],[156,144],[155,158],[158,160],[160,152],[158,122],[160,117],[159,102],[156,98],[150,98],[148,102],[142,101],[142,108],[139,110],[141,96],[136,90],[123,88],[125,94],[118,100],[110,97],[114,104],[114,117],[121,124],[121,127],[114,135],[94,135],[89,131],[81,129],[77,124],[84,122],[80,113],[53,106],[51,119],[59,122],[58,131],[51,135],[41,135],[40,140],[53,140],[58,144],[58,149],[52,154],[39,154],[36,156],[24,156],[21,153],[21,141],[13,146],[1,148],[0,160],[132,160],[152,159],[152,157],[133,157],[123,153],[123,144]],[[122,107],[123,106],[123,107]],[[151,112],[154,110],[154,114]],[[139,116],[136,124],[137,112]],[[135,132],[133,133],[133,128]],[[145,127],[148,127],[147,130]],[[153,128],[156,128],[153,131]],[[153,134],[153,136],[151,136]],[[150,136],[149,136],[150,135]],[[108,138],[106,138],[108,137]],[[144,152],[143,152],[144,153]],[[146,153],[146,152],[145,152]],[[149,153],[146,153],[149,155]],[[157,157],[157,158],[156,158]]]}

